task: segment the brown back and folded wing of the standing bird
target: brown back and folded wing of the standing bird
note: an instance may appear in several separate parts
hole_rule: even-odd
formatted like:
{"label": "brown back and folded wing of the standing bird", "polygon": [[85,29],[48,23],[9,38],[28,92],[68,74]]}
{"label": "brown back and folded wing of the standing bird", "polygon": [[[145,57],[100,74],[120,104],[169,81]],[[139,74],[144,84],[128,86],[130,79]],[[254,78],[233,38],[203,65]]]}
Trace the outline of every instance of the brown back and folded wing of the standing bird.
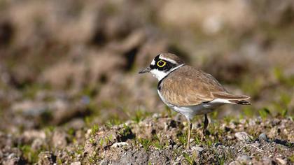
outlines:
{"label": "brown back and folded wing of the standing bird", "polygon": [[229,94],[210,74],[187,65],[169,73],[160,84],[160,92],[167,102],[177,106],[195,106],[227,97],[242,99],[241,96]]}

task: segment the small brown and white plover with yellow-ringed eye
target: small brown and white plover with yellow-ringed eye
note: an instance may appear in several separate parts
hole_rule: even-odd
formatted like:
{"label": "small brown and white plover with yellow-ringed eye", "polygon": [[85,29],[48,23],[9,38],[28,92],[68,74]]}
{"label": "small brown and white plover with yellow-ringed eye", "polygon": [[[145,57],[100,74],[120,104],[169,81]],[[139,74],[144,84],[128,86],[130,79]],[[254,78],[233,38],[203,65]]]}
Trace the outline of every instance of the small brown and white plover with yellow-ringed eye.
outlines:
{"label": "small brown and white plover with yellow-ringed eye", "polygon": [[185,64],[172,53],[160,53],[139,73],[151,73],[157,78],[160,99],[169,108],[186,117],[187,150],[190,148],[191,120],[195,115],[204,115],[204,139],[209,124],[208,113],[224,104],[251,105],[246,101],[250,96],[231,94],[211,74]]}

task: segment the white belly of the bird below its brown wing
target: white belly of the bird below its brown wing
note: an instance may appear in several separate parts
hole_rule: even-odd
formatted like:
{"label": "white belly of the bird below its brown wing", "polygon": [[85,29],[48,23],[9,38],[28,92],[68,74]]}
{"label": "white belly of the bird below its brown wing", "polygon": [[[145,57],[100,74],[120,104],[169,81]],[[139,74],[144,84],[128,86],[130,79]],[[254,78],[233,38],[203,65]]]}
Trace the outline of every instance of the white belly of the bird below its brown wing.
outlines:
{"label": "white belly of the bird below its brown wing", "polygon": [[189,120],[192,120],[192,118],[195,115],[204,115],[207,113],[211,113],[212,111],[214,111],[214,108],[217,108],[218,106],[222,106],[223,104],[225,104],[223,101],[211,101],[209,103],[201,103],[199,105],[195,105],[195,106],[176,106],[176,105],[172,105],[171,103],[168,103],[165,98],[160,94],[160,92],[158,91],[158,94],[160,96],[160,99],[162,99],[162,101],[167,104],[167,106],[169,106],[169,108],[172,108],[173,110],[175,110],[178,113],[181,113],[182,115],[184,115],[185,117],[187,117]]}

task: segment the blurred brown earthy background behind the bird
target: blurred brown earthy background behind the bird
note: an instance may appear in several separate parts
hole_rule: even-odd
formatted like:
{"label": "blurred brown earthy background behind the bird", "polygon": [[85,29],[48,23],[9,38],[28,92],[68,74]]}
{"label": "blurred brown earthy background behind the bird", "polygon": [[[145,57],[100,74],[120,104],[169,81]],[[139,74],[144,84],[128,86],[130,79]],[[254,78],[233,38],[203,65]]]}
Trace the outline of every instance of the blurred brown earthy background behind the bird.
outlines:
{"label": "blurred brown earthy background behind the bird", "polygon": [[137,74],[160,52],[251,96],[214,117],[293,116],[293,45],[292,0],[0,0],[0,130],[169,114]]}

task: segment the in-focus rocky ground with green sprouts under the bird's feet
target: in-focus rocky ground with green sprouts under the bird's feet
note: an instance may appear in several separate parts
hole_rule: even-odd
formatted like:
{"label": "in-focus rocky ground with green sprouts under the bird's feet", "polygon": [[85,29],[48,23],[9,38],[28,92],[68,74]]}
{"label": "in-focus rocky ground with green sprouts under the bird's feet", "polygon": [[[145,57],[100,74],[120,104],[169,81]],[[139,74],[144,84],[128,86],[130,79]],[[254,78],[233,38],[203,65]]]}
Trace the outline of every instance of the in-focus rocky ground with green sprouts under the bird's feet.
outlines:
{"label": "in-focus rocky ground with green sprouts under the bird's feet", "polygon": [[16,136],[1,132],[0,164],[294,164],[293,118],[212,120],[204,141],[198,118],[189,150],[186,124],[155,113],[92,128],[76,120]]}

